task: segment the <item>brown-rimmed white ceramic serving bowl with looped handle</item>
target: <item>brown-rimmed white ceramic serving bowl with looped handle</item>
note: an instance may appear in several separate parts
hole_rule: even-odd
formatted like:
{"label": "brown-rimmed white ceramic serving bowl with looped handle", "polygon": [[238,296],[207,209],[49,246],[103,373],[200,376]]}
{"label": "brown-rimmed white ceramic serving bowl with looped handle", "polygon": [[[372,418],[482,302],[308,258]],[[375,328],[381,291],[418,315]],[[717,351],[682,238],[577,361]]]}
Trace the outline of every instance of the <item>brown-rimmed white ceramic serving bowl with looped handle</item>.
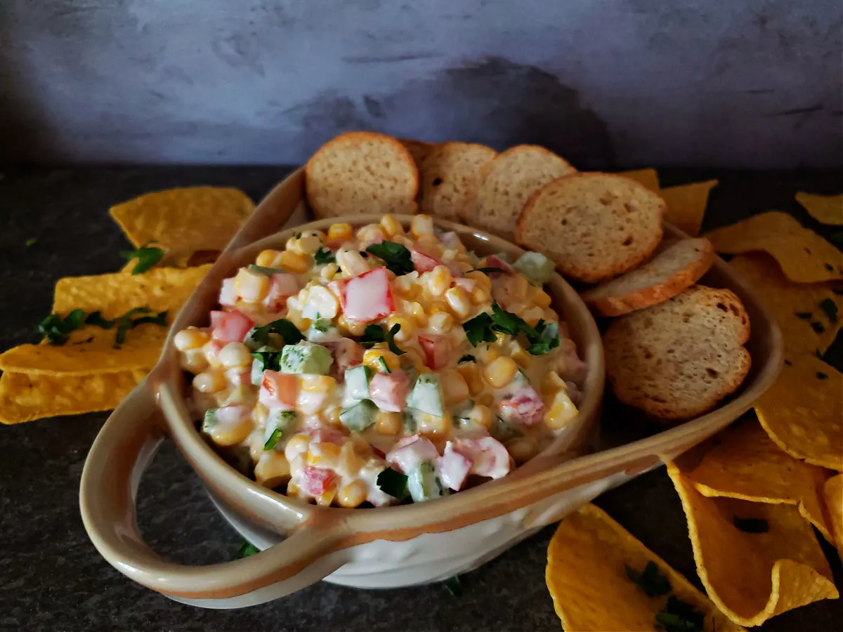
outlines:
{"label": "brown-rimmed white ceramic serving bowl with looped handle", "polygon": [[[172,337],[188,325],[206,325],[223,278],[255,260],[260,250],[282,246],[303,228],[324,229],[337,221],[360,225],[379,219],[332,218],[277,232],[297,217],[305,217],[303,200],[303,172],[298,170],[260,203],[180,311],[158,366],[110,416],[85,463],[80,507],[99,553],[132,580],[177,601],[205,608],[239,608],[282,597],[321,579],[358,587],[442,581],[491,560],[604,490],[728,426],[769,388],[781,368],[781,335],[776,324],[718,260],[706,282],[738,293],[753,328],[749,342],[753,369],[741,390],[717,410],[681,426],[588,453],[588,437],[598,426],[603,399],[603,349],[588,309],[572,287],[555,276],[546,289],[568,324],[588,374],[581,385],[577,424],[543,453],[503,479],[436,501],[340,509],[287,498],[240,474],[201,438],[185,405],[185,377]],[[405,225],[411,219],[397,217]],[[459,233],[478,254],[505,252],[515,258],[523,252],[472,228],[438,224]],[[144,544],[135,518],[137,484],[164,437],[175,441],[228,522],[265,550],[224,564],[185,566],[164,560]]]}

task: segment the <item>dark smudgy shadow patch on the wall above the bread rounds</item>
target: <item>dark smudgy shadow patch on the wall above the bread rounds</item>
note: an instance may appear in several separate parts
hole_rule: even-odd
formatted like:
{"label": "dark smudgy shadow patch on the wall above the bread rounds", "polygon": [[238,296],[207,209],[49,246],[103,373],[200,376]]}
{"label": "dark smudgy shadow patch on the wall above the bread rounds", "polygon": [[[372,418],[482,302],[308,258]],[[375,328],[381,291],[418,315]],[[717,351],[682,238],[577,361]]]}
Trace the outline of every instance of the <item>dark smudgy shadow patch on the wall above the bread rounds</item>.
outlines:
{"label": "dark smudgy shadow patch on the wall above the bread rounds", "polygon": [[360,106],[347,95],[325,92],[283,110],[277,124],[296,130],[308,153],[343,131],[376,130],[426,141],[482,142],[497,150],[534,143],[580,169],[615,166],[605,121],[576,90],[550,72],[502,57],[446,68],[393,93],[364,95]]}

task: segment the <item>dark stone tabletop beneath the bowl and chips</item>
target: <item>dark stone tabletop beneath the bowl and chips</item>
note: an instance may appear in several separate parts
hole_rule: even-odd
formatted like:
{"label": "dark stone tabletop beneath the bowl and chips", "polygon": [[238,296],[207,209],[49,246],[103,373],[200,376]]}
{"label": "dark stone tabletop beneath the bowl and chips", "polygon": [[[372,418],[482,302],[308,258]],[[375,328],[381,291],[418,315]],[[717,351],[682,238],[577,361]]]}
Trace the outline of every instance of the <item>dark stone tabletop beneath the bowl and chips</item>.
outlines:
{"label": "dark stone tabletop beneath the bowl and chips", "polygon": [[[0,348],[35,341],[33,326],[51,307],[60,276],[121,265],[126,247],[110,204],[175,185],[236,185],[255,198],[285,173],[273,168],[8,170],[0,179]],[[794,212],[796,190],[840,190],[840,172],[713,174],[666,172],[663,184],[718,176],[706,228],[752,212]],[[38,238],[27,248],[28,238]],[[840,346],[840,340],[836,345]],[[442,586],[359,591],[319,583],[290,597],[239,611],[170,602],[137,586],[99,557],[78,512],[88,448],[107,415],[78,415],[0,427],[0,629],[3,630],[556,630],[545,588],[552,528],[464,576],[464,595]],[[685,517],[663,470],[599,498],[636,537],[700,586]],[[233,559],[240,540],[213,509],[199,480],[165,444],[144,477],[138,515],[149,544],[189,564]],[[840,563],[827,552],[841,585]],[[783,614],[764,630],[837,629],[840,602]],[[835,621],[837,622],[835,624]]]}

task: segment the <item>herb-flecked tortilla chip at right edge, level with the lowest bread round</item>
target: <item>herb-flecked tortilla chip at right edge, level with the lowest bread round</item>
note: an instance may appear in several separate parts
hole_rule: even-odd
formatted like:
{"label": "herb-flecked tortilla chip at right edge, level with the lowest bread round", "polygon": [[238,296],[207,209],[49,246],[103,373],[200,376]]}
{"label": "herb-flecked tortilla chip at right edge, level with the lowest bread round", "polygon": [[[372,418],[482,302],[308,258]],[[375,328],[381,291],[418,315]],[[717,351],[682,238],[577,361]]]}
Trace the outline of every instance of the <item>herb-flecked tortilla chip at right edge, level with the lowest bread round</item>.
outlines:
{"label": "herb-flecked tortilla chip at right edge, level with the lowest bread round", "polygon": [[738,254],[729,265],[776,315],[788,356],[824,353],[835,341],[843,326],[843,296],[819,283],[788,281],[769,254]]}

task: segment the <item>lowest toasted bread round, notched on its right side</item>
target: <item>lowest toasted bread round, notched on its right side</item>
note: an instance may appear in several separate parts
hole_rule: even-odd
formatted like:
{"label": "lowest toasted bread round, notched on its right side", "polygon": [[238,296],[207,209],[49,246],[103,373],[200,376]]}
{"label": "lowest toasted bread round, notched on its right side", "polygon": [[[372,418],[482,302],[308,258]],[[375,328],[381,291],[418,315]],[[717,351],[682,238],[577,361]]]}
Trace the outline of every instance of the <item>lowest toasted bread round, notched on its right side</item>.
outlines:
{"label": "lowest toasted bread round, notched on its right side", "polygon": [[663,419],[689,419],[744,381],[747,340],[749,316],[733,292],[692,286],[609,325],[606,377],[621,402]]}

